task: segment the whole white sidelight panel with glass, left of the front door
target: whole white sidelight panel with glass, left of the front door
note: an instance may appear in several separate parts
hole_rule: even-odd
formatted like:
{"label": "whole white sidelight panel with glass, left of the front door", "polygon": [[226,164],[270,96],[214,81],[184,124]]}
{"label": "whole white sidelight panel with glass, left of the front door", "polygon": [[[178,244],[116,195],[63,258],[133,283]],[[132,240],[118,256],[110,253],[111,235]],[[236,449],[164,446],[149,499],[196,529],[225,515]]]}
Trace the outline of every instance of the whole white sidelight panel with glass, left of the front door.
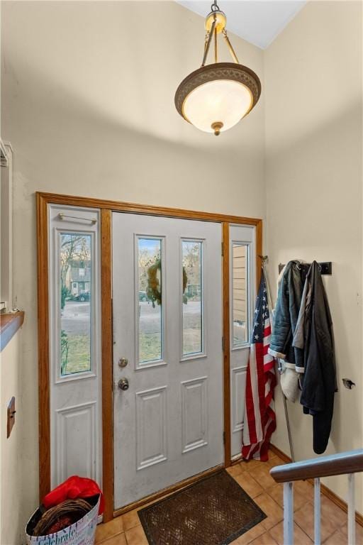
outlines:
{"label": "whole white sidelight panel with glass, left of the front door", "polygon": [[51,488],[102,484],[99,217],[49,207]]}

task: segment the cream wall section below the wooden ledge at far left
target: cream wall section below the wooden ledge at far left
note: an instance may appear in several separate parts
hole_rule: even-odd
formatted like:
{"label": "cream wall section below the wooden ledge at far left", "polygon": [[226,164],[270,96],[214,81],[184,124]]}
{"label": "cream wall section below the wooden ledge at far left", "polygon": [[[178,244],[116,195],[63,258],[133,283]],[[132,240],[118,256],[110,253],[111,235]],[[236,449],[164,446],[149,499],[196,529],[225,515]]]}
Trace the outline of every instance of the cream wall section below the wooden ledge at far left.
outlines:
{"label": "cream wall section below the wooden ledge at far left", "polygon": [[[21,449],[23,448],[25,415],[21,406],[20,377],[24,361],[21,356],[19,330],[0,353],[0,543],[18,545],[21,542],[23,513],[21,512]],[[15,397],[16,419],[9,439],[6,439],[6,407]]]}

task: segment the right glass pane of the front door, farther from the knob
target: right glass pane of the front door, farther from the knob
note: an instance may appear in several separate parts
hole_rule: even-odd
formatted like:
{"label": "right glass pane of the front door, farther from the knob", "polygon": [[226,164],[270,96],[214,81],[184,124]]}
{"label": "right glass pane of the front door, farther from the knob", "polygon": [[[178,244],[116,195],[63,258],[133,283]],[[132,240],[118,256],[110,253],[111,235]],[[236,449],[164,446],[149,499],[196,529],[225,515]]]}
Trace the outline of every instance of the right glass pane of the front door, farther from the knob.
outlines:
{"label": "right glass pane of the front door, farther from the knob", "polygon": [[202,243],[181,241],[183,255],[183,356],[203,352]]}

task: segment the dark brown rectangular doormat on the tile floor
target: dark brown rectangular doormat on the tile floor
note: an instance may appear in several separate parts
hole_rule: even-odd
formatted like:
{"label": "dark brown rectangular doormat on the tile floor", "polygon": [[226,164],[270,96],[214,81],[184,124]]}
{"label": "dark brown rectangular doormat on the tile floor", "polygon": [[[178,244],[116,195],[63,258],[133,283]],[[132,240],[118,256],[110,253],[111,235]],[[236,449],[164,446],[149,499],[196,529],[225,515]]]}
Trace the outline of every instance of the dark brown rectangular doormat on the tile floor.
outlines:
{"label": "dark brown rectangular doormat on the tile floor", "polygon": [[150,545],[227,545],[266,518],[224,469],[138,515]]}

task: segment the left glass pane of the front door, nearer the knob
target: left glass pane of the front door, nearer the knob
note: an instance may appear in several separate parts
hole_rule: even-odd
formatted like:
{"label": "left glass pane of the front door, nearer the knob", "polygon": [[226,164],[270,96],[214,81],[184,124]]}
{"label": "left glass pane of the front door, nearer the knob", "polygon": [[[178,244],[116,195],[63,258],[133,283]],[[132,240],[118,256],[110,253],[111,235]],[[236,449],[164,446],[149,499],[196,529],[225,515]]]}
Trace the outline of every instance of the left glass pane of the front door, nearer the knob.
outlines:
{"label": "left glass pane of the front door, nearer the knob", "polygon": [[162,240],[138,239],[139,363],[162,359]]}

